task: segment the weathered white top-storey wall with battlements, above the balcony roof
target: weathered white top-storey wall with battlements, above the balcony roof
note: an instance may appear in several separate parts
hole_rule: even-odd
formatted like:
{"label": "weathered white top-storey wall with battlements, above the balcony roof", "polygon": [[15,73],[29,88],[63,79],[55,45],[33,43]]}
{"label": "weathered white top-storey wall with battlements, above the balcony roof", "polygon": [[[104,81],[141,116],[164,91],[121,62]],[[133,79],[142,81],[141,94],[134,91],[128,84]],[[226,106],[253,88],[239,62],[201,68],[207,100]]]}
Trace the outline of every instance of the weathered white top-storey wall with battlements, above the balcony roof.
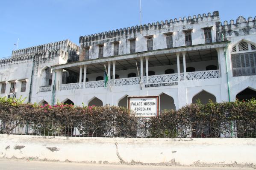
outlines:
{"label": "weathered white top-storey wall with battlements, above the balcony roof", "polygon": [[[166,35],[165,33],[173,33],[173,47],[185,46],[185,34],[184,30],[192,30],[192,44],[204,44],[204,31],[203,28],[211,27],[212,29],[212,42],[216,42],[216,25],[219,21],[218,11],[214,11],[212,14],[208,13],[200,15],[193,15],[174,19],[165,20],[156,23],[148,23],[147,25],[132,26],[131,28],[120,28],[119,30],[113,30],[109,32],[102,32],[98,34],[91,34],[88,36],[80,37],[79,43],[81,45],[80,54],[84,55],[84,47],[89,47],[89,59],[98,58],[99,48],[98,45],[103,44],[103,57],[113,56],[114,45],[113,42],[119,42],[119,55],[130,53],[131,39],[136,39],[135,51],[147,51],[147,36],[153,37],[153,50],[166,48]],[[84,56],[79,57],[80,60],[84,60]]]}

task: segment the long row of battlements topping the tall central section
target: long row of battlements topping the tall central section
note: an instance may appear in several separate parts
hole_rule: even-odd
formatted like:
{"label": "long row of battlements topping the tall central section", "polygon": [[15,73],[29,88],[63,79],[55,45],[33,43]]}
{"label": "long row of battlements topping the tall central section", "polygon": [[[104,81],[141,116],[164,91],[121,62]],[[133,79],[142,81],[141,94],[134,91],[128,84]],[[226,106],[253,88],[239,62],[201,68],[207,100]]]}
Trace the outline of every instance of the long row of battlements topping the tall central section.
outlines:
{"label": "long row of battlements topping the tall central section", "polygon": [[102,40],[105,38],[112,38],[116,36],[121,36],[121,35],[127,35],[127,34],[136,34],[141,31],[148,31],[152,29],[161,29],[161,28],[166,28],[166,27],[175,27],[175,26],[183,26],[187,24],[194,24],[194,23],[199,23],[199,22],[204,22],[204,21],[209,21],[210,20],[219,20],[219,11],[214,11],[212,14],[209,12],[208,14],[198,14],[193,15],[193,17],[188,16],[179,17],[179,19],[175,18],[174,20],[165,20],[164,21],[157,21],[156,23],[148,23],[147,25],[144,24],[141,27],[140,26],[132,26],[132,27],[127,27],[127,28],[120,28],[112,31],[105,31],[101,32],[98,34],[91,34],[87,36],[81,36],[79,38],[79,43],[83,42],[89,42],[89,41],[96,41],[96,40]]}

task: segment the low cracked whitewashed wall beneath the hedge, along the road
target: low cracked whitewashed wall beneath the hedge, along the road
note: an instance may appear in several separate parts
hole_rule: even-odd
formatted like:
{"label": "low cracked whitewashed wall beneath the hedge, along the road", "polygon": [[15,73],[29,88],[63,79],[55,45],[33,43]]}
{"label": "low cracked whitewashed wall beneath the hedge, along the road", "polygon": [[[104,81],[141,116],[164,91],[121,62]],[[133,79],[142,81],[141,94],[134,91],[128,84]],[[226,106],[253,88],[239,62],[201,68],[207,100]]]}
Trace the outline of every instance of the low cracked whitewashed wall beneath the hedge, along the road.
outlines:
{"label": "low cracked whitewashed wall beneath the hedge, along the road", "polygon": [[79,138],[0,135],[0,157],[176,165],[256,164],[256,139]]}

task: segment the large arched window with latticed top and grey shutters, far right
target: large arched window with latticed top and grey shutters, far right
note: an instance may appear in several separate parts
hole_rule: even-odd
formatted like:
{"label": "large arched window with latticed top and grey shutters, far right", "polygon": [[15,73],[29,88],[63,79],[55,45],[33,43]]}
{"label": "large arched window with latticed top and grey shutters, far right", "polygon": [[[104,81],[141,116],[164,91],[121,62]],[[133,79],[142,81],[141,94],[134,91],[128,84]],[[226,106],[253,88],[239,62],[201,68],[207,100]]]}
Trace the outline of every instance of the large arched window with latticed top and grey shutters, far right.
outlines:
{"label": "large arched window with latticed top and grey shutters, far right", "polygon": [[250,42],[241,41],[231,51],[233,76],[256,75],[256,47]]}

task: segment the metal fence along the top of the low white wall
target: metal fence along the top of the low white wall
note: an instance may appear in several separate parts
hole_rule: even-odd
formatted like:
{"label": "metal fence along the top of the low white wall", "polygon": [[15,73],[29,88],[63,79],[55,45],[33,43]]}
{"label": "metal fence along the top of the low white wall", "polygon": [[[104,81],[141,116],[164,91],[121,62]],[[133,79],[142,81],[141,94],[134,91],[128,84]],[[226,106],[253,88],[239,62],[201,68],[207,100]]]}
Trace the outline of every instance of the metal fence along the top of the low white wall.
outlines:
{"label": "metal fence along the top of the low white wall", "polygon": [[143,137],[143,138],[256,138],[256,124],[244,121],[187,122],[154,124],[150,119],[137,119],[127,126],[117,122],[72,127],[58,122],[1,122],[0,134],[67,136],[67,137]]}

